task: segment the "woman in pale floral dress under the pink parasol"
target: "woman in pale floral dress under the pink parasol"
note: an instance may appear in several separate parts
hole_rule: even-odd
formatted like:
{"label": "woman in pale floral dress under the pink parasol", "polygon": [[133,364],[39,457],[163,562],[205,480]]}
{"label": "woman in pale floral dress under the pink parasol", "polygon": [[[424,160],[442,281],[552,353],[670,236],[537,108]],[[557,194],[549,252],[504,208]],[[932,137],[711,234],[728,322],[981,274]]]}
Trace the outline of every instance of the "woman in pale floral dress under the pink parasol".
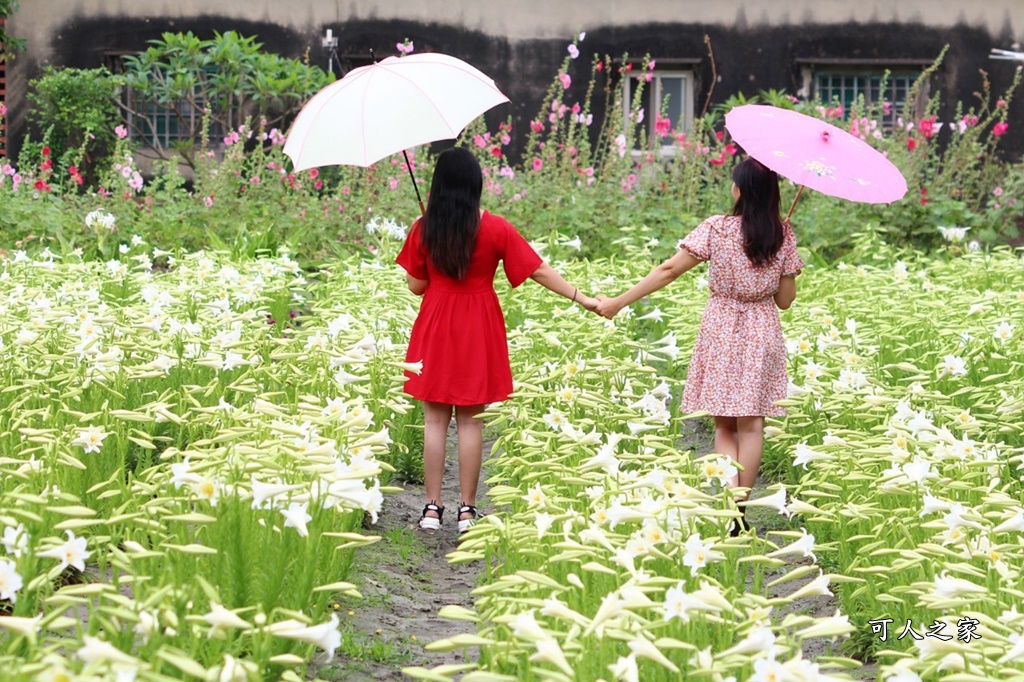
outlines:
{"label": "woman in pale floral dress under the pink parasol", "polygon": [[[778,308],[797,297],[804,267],[797,239],[778,212],[778,175],[754,159],[732,172],[731,215],[708,218],[682,249],[615,298],[598,297],[597,311],[623,307],[709,262],[711,296],[686,374],[682,409],[715,417],[715,451],[739,463],[731,487],[754,487],[764,441],[764,418],[781,417],[786,395],[785,345]],[[745,493],[743,493],[745,496]],[[746,527],[745,517],[733,532]]]}

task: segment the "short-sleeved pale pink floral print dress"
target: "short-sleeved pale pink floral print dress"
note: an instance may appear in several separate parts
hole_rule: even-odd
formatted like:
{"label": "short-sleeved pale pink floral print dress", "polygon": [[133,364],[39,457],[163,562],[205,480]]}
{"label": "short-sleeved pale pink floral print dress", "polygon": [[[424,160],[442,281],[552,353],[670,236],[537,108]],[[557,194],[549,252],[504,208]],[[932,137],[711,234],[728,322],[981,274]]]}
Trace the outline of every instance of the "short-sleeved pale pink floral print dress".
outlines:
{"label": "short-sleeved pale pink floral print dress", "polygon": [[783,417],[785,344],[773,299],[779,279],[805,263],[788,224],[774,259],[755,267],[743,251],[742,219],[717,215],[701,222],[681,247],[709,261],[711,295],[700,319],[683,391],[684,412],[716,417]]}

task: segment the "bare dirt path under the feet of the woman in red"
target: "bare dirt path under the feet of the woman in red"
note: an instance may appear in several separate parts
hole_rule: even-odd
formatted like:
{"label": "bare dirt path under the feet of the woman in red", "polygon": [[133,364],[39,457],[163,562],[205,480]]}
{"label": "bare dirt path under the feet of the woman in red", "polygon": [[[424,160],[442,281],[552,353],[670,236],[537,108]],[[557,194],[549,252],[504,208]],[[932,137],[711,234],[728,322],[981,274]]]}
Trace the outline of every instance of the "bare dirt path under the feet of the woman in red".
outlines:
{"label": "bare dirt path under the feet of the woman in red", "polygon": [[[407,666],[432,667],[463,663],[461,650],[433,653],[423,646],[461,633],[474,634],[465,621],[437,615],[447,604],[471,607],[476,586],[475,563],[449,565],[445,556],[458,547],[459,469],[455,457],[455,425],[449,430],[447,458],[441,495],[445,506],[440,530],[419,529],[424,492],[420,483],[395,481],[401,493],[385,496],[383,512],[369,532],[382,536],[356,554],[350,580],[362,599],[341,604],[344,641],[335,660],[316,671],[329,680],[401,680]],[[484,462],[492,441],[483,443]],[[486,477],[484,472],[482,478]],[[486,486],[480,483],[478,507],[489,511]]]}

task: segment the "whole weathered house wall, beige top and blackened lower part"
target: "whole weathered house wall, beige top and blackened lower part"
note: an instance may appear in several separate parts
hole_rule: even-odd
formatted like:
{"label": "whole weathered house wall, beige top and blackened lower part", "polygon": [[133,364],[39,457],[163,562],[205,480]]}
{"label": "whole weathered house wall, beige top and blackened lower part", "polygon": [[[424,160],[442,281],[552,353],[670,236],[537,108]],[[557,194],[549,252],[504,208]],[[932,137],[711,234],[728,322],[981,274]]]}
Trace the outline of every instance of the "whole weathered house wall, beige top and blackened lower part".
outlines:
{"label": "whole weathered house wall, beige top and blackened lower part", "polygon": [[[526,123],[539,110],[568,41],[586,30],[577,82],[566,100],[584,95],[584,65],[594,53],[612,56],[649,53],[663,62],[678,60],[692,70],[693,108],[743,92],[805,88],[808,73],[822,63],[912,62],[934,58],[950,46],[934,87],[951,116],[956,99],[975,103],[982,86],[979,70],[996,91],[1006,87],[1015,65],[988,58],[992,47],[1009,48],[1024,37],[1024,2],[943,0],[23,0],[8,29],[27,49],[7,75],[9,141],[29,129],[29,81],[45,65],[101,66],[111,55],[139,51],[165,31],[212,36],[236,30],[255,34],[264,49],[327,66],[321,36],[339,37],[343,63],[394,52],[404,38],[418,52],[442,51],[464,58],[492,76],[512,103],[496,109],[492,122],[512,116],[521,143]],[[715,73],[703,37],[711,37]],[[714,83],[713,83],[714,80]],[[1020,116],[1021,103],[1012,114]],[[1011,126],[1006,142],[1024,152],[1024,125]]]}

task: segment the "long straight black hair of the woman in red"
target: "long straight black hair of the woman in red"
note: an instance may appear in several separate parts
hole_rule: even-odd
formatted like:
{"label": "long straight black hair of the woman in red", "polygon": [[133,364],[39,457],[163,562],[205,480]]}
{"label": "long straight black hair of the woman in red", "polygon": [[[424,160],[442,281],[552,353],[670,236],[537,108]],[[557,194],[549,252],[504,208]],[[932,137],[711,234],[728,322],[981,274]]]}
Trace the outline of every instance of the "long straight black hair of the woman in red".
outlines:
{"label": "long straight black hair of the woman in red", "polygon": [[434,166],[423,216],[423,246],[443,274],[462,280],[476,246],[480,226],[480,163],[460,146],[442,152]]}

